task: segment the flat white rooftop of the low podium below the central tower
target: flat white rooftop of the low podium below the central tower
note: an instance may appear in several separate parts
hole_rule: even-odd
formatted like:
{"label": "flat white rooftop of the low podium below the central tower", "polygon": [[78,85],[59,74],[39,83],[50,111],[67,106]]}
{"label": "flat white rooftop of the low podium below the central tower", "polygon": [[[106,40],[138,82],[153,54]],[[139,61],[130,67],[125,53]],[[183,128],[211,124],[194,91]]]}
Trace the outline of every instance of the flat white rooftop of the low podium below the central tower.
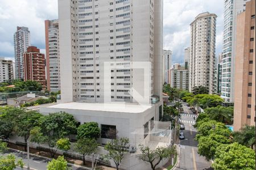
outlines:
{"label": "flat white rooftop of the low podium below the central tower", "polygon": [[102,111],[102,112],[124,112],[124,113],[142,113],[150,109],[152,105],[139,104],[123,104],[123,103],[80,103],[69,102],[51,105],[47,108],[57,109],[76,109],[86,111]]}

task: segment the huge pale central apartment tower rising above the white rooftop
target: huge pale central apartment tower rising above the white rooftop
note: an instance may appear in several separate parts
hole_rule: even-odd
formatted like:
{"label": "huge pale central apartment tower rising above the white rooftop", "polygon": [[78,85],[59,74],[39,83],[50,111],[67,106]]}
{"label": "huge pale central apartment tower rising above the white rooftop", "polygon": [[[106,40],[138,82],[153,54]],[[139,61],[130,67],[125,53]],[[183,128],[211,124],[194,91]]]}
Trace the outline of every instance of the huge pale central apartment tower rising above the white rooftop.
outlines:
{"label": "huge pale central apartment tower rising above the white rooftop", "polygon": [[[59,0],[61,102],[100,103],[111,97],[138,103],[133,93],[144,91],[144,71],[131,67],[135,62],[150,63],[148,93],[161,99],[162,7],[159,0]],[[119,67],[109,70],[106,84],[104,69],[111,67],[104,67],[107,62]]]}

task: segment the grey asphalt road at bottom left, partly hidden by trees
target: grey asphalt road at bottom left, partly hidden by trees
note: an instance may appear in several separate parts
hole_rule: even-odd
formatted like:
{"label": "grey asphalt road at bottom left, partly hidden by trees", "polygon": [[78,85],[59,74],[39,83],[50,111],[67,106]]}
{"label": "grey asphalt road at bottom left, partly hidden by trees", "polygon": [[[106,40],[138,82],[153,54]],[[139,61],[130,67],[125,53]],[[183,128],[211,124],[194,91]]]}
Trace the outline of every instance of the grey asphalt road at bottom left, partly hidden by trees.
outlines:
{"label": "grey asphalt road at bottom left, partly hidden by trees", "polygon": [[[24,168],[23,169],[27,169],[27,154],[26,152],[18,152],[18,151],[14,151],[14,150],[9,150],[7,151],[4,155],[7,155],[7,154],[13,154],[15,155],[15,157],[17,159],[22,159],[23,163],[25,164]],[[3,155],[3,154],[0,154],[0,155]],[[31,170],[46,170],[46,166],[47,166],[47,163],[48,163],[49,159],[45,159],[45,158],[39,158],[37,156],[31,156],[30,155],[30,161],[29,161],[29,164],[30,164],[30,169]],[[73,169],[73,170],[84,170],[85,168],[82,168],[82,167],[79,167],[77,165],[73,165],[73,164],[69,164],[68,165],[69,168]],[[15,170],[19,170],[20,168],[16,168]]]}

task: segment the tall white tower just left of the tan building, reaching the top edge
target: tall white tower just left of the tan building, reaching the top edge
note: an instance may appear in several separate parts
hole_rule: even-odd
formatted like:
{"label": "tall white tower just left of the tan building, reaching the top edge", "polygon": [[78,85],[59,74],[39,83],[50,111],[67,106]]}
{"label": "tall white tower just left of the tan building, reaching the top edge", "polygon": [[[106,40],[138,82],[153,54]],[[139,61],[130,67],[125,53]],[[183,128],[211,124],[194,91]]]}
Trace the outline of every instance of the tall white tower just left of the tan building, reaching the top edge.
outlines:
{"label": "tall white tower just left of the tan building, reaching the top edge", "polygon": [[234,101],[234,62],[236,59],[237,15],[245,10],[248,0],[224,1],[224,35],[222,54],[221,97],[225,101]]}

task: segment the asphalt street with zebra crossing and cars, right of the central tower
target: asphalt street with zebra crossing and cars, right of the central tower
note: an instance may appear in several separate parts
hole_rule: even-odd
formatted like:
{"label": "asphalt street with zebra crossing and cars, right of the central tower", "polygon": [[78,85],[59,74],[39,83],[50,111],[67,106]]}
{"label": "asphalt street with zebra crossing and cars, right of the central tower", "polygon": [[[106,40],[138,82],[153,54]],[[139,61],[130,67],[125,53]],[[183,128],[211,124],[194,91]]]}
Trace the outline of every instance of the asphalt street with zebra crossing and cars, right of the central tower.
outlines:
{"label": "asphalt street with zebra crossing and cars, right of the central tower", "polygon": [[175,170],[187,169],[187,170],[206,170],[210,168],[210,162],[207,162],[203,156],[197,154],[197,141],[195,141],[196,129],[193,128],[195,120],[193,117],[197,117],[193,114],[187,105],[183,104],[184,112],[181,112],[181,122],[185,125],[184,140],[180,140],[180,154],[179,163],[176,165]]}

